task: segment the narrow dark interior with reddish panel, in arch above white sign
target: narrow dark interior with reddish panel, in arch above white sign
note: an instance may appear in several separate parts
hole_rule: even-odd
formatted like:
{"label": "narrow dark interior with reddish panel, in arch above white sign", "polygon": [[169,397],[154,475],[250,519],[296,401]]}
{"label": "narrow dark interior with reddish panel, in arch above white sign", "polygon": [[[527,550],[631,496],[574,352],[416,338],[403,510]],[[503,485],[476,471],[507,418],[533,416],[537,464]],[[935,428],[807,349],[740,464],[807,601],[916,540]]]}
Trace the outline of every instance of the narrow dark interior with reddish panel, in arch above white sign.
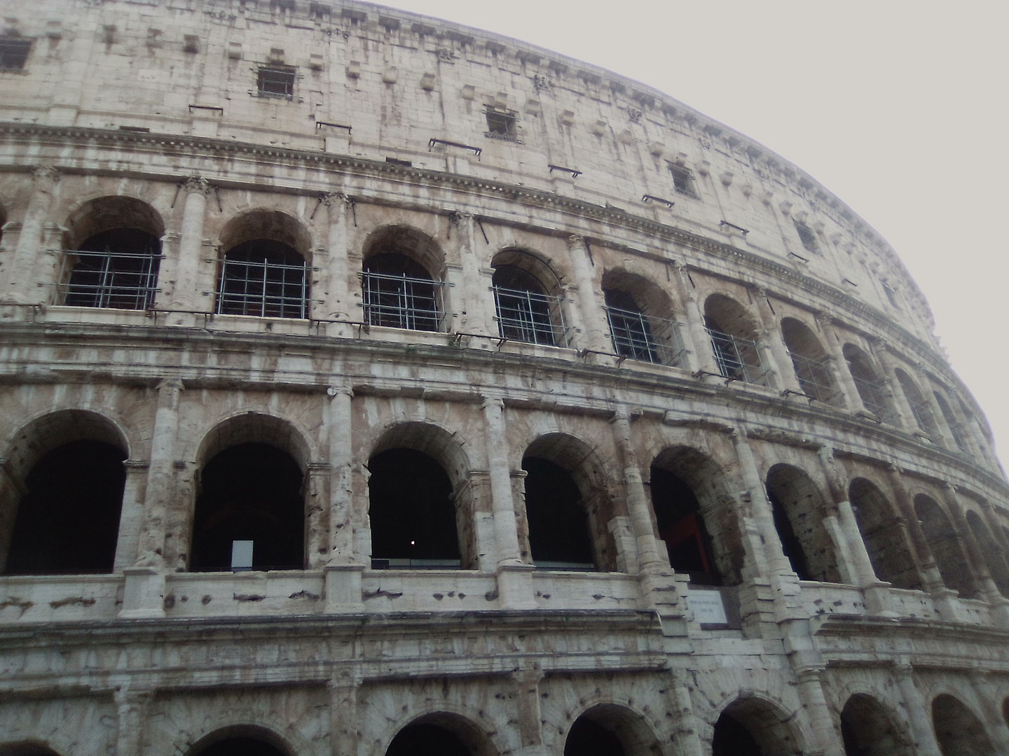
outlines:
{"label": "narrow dark interior with reddish panel, in arch above white sign", "polygon": [[711,538],[690,486],[654,463],[650,476],[656,525],[666,543],[670,565],[677,573],[688,574],[691,583],[720,586]]}

